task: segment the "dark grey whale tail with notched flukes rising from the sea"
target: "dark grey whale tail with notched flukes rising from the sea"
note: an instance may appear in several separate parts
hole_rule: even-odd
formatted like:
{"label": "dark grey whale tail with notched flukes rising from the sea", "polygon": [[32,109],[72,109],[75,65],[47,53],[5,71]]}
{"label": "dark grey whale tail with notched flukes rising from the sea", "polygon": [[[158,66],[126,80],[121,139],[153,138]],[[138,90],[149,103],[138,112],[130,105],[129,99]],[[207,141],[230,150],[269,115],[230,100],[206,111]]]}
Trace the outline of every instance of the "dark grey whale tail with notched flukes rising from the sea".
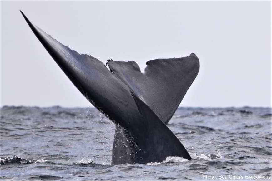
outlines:
{"label": "dark grey whale tail with notched flukes rising from the sea", "polygon": [[62,45],[21,13],[78,90],[117,124],[113,165],[161,162],[167,156],[191,159],[165,124],[198,74],[195,54],[148,61],[144,74],[135,62],[109,61],[113,74],[98,59]]}

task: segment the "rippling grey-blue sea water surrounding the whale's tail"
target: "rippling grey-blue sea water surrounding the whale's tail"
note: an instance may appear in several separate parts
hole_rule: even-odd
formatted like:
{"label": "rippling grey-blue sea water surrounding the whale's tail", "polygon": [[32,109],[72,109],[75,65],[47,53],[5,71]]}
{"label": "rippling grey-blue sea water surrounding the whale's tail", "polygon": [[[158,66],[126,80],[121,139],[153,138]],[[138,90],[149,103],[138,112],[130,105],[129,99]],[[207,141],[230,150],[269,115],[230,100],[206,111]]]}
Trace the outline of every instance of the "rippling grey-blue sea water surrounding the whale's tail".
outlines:
{"label": "rippling grey-blue sea water surrounding the whale's tail", "polygon": [[0,179],[269,180],[271,118],[270,108],[179,108],[168,126],[193,160],[110,166],[115,126],[96,109],[4,106]]}

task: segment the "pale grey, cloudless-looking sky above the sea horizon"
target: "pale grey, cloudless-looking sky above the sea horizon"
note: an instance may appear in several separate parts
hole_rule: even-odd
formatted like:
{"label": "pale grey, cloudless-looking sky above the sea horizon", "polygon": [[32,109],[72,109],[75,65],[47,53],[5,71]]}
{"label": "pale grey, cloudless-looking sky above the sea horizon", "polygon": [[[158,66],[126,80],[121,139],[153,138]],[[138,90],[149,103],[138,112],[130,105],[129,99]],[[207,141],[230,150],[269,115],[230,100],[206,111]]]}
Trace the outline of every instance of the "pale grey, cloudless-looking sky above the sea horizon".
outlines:
{"label": "pale grey, cloudless-looking sky above the sea horizon", "polygon": [[1,2],[1,106],[90,105],[28,27],[79,53],[145,62],[189,56],[200,71],[180,106],[271,106],[270,1]]}

